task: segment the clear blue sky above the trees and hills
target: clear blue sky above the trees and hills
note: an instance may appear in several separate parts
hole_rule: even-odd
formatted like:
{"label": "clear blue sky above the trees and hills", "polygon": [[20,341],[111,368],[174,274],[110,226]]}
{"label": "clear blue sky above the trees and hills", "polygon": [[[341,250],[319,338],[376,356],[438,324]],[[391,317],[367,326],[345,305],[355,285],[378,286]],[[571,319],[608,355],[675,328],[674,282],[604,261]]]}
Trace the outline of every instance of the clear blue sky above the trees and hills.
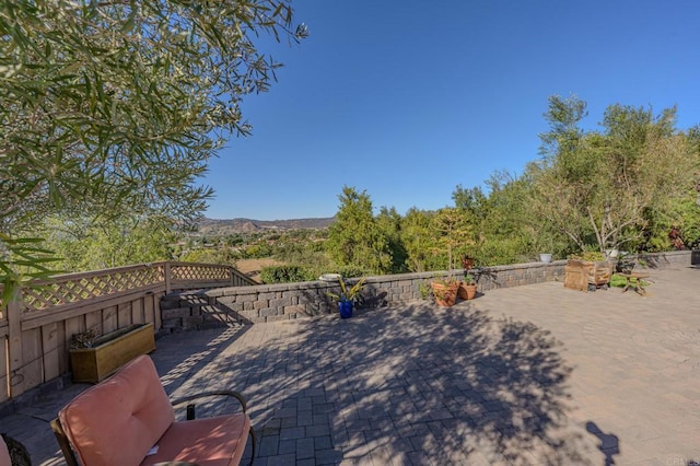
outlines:
{"label": "clear blue sky above the trees and hills", "polygon": [[207,217],[332,217],[343,185],[401,214],[452,205],[538,158],[552,94],[586,101],[588,128],[614,103],[700,124],[697,0],[293,5],[311,35],[269,49],[284,68],[246,97],[253,136],[211,161]]}

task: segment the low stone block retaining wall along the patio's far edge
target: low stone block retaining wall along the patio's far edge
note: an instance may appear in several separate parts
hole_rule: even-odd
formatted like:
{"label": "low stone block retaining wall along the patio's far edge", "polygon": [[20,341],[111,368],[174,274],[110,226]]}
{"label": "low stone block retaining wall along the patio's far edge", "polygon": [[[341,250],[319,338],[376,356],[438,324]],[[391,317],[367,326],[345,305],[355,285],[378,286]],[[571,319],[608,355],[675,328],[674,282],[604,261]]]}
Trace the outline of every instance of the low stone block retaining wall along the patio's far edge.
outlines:
{"label": "low stone block retaining wall along the patio's far edge", "polygon": [[[695,257],[695,256],[692,256]],[[646,254],[639,257],[646,267],[689,266],[691,252]],[[476,269],[478,291],[511,288],[547,281],[563,281],[567,260],[550,264],[529,263]],[[447,272],[401,273],[368,277],[362,308],[400,306],[424,299],[421,287]],[[454,272],[457,279],[462,270]],[[235,324],[259,324],[337,312],[327,293],[339,293],[337,283],[307,281],[219,288],[199,292],[170,294],[161,301],[165,333]]]}

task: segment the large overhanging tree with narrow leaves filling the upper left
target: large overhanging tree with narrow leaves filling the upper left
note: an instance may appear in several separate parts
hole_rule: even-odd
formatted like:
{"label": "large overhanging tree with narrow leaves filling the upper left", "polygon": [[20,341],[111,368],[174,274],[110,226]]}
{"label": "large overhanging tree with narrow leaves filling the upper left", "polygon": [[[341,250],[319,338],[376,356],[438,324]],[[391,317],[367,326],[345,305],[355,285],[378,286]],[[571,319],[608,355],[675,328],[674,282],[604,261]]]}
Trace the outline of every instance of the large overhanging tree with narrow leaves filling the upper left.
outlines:
{"label": "large overhanging tree with narrow leaves filling the upper left", "polygon": [[242,98],[280,66],[260,35],[299,40],[289,0],[0,0],[0,281],[48,273],[18,242],[56,212],[186,221],[207,161],[247,135]]}

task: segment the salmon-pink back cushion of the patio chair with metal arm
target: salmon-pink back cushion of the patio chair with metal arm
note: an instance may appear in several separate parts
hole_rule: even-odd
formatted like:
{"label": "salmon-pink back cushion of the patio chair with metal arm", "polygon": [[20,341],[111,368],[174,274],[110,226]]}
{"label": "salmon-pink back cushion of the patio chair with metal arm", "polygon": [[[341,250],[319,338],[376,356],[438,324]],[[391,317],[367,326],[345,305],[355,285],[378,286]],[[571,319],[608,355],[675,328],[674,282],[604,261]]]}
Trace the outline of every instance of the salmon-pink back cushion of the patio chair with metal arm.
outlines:
{"label": "salmon-pink back cushion of the patio chair with metal arm", "polygon": [[88,388],[58,417],[85,466],[138,465],[175,420],[148,356]]}

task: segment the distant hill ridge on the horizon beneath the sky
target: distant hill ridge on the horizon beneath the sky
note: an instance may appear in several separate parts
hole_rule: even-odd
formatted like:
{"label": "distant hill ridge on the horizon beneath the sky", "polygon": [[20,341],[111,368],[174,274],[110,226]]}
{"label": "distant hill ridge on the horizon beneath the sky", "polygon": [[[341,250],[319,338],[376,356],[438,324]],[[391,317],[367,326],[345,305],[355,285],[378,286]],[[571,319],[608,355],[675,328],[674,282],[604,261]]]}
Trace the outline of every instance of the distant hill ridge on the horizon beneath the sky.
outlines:
{"label": "distant hill ridge on the horizon beneath the sky", "polygon": [[252,220],[252,219],[202,219],[198,222],[198,233],[203,235],[226,235],[231,233],[253,233],[271,230],[325,229],[336,219],[293,219],[293,220]]}

